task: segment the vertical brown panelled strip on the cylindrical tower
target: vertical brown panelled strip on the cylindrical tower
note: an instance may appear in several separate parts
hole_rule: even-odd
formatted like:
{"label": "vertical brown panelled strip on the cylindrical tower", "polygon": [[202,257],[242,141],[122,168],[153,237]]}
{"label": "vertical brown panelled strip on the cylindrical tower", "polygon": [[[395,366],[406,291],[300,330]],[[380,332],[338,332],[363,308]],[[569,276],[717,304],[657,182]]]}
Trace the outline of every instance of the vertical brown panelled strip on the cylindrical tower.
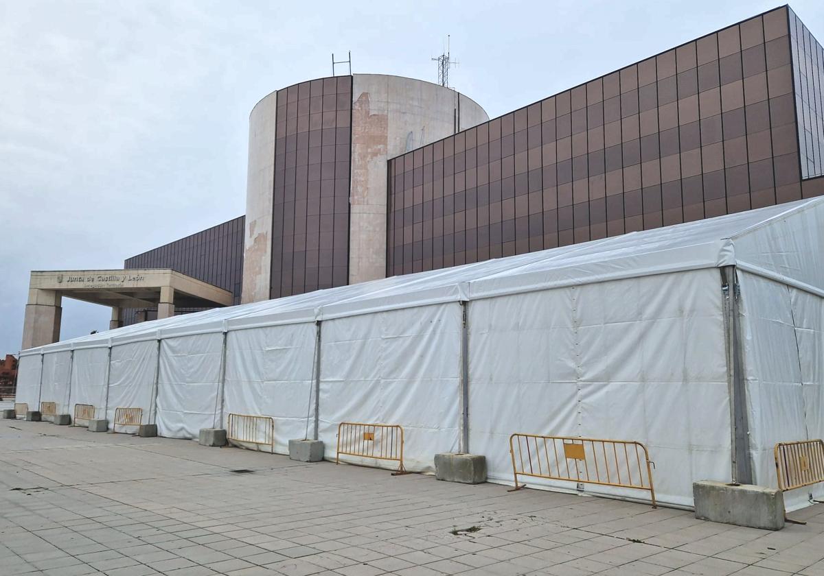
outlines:
{"label": "vertical brown panelled strip on the cylindrical tower", "polygon": [[352,77],[278,91],[271,298],[345,286]]}

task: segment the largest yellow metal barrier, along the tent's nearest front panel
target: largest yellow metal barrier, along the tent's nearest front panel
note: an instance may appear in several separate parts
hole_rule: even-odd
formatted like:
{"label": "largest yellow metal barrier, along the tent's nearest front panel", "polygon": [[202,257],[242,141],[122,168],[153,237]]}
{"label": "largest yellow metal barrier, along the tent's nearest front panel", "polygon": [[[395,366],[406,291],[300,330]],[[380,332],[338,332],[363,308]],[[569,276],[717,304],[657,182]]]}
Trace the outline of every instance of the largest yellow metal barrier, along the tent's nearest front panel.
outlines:
{"label": "largest yellow metal barrier, along the tent's nearest front panel", "polygon": [[[634,440],[513,434],[509,437],[515,488],[518,476],[647,490],[655,502],[647,447]],[[646,478],[644,478],[644,474]]]}

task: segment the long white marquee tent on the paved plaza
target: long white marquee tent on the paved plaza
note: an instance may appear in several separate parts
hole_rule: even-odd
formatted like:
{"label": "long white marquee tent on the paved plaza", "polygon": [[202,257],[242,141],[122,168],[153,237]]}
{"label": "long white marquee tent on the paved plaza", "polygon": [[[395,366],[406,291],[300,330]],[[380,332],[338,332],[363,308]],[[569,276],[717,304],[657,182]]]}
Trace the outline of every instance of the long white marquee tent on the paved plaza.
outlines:
{"label": "long white marquee tent on the paved plaza", "polygon": [[634,439],[689,506],[695,480],[775,486],[774,444],[824,436],[822,230],[804,200],[135,324],[22,351],[17,402],[139,406],[181,439],[272,416],[275,452],[326,458],[340,421],[399,424],[408,469],[464,451],[499,482],[513,432]]}

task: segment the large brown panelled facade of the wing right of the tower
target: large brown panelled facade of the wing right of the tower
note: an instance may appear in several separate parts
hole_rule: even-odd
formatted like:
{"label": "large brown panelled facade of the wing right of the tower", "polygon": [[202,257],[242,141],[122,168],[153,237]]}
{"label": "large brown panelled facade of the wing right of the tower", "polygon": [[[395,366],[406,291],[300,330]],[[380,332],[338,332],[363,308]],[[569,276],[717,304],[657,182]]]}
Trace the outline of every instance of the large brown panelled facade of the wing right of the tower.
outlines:
{"label": "large brown panelled facade of the wing right of the tower", "polygon": [[780,7],[392,159],[387,275],[801,198],[793,82]]}

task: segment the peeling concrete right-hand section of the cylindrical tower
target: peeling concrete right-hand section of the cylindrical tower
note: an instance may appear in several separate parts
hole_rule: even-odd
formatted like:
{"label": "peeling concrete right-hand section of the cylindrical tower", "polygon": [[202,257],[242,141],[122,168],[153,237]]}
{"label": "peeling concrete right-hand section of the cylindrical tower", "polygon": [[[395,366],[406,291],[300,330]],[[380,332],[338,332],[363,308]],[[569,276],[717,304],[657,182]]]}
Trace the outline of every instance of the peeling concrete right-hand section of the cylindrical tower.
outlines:
{"label": "peeling concrete right-hand section of the cylindrical tower", "polygon": [[386,276],[386,160],[489,120],[465,95],[412,78],[355,74],[352,98],[349,284]]}

